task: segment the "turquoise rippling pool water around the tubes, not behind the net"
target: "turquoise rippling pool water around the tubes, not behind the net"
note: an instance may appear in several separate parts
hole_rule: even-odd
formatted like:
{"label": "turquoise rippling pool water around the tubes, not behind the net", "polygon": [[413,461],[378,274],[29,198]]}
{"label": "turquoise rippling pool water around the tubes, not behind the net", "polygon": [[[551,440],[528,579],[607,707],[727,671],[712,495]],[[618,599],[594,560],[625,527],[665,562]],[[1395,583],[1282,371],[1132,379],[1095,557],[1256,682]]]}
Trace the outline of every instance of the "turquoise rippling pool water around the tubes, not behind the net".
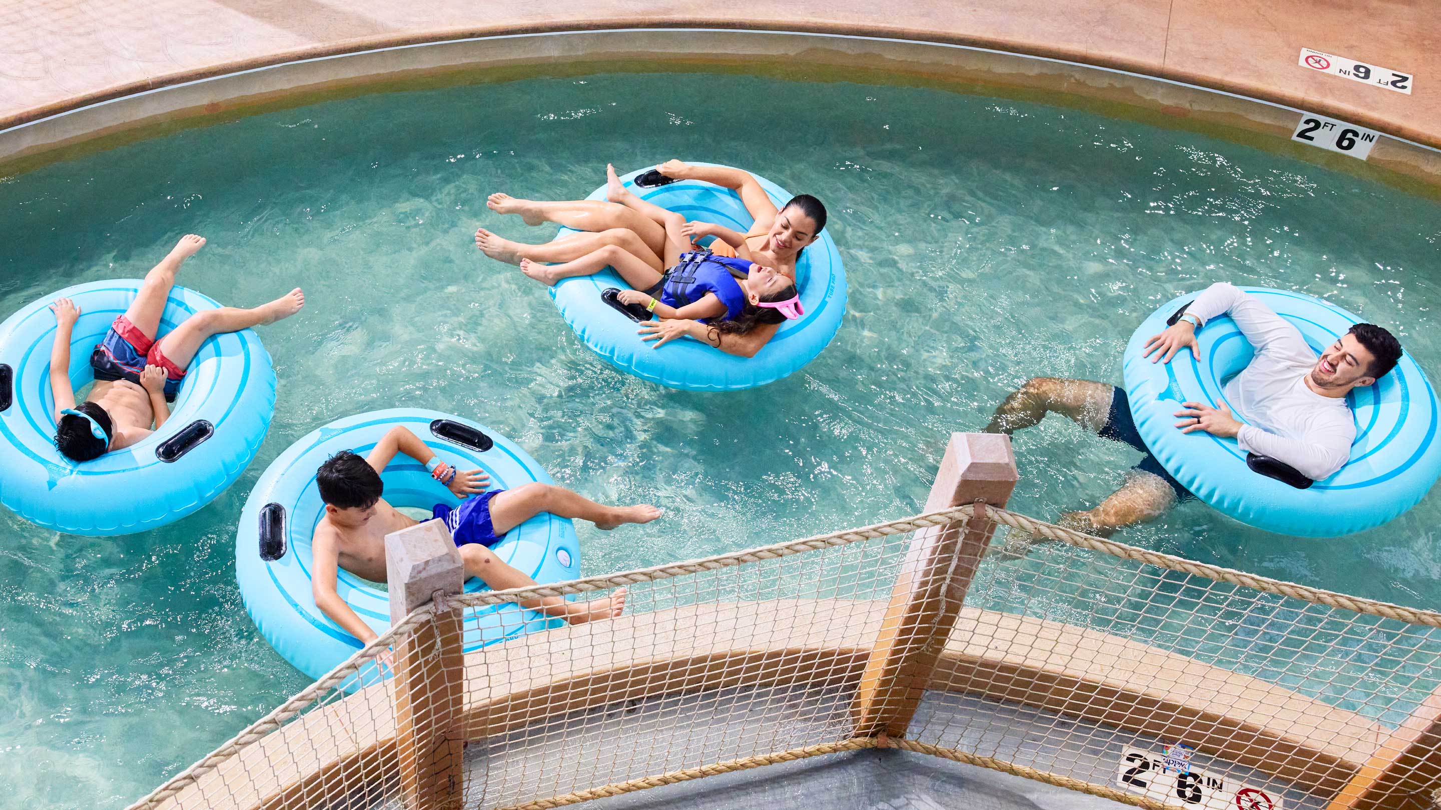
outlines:
{"label": "turquoise rippling pool water around the tubes, not behind the net", "polygon": [[[775,98],[720,125],[708,97]],[[759,391],[614,372],[549,297],[476,252],[477,225],[543,241],[488,192],[582,197],[607,161],[732,163],[820,196],[847,262],[831,346]],[[720,75],[545,79],[336,101],[0,180],[0,314],[138,277],[184,232],[182,282],[233,304],[294,285],[261,336],[280,398],[241,481],[164,529],[56,535],[0,513],[0,807],[124,804],[305,685],[233,581],[249,487],[291,441],[389,406],[474,417],[644,528],[578,528],[586,574],[919,510],[950,431],[1035,375],[1117,382],[1131,330],[1226,278],[1327,297],[1441,369],[1441,206],[1248,147],[929,89]],[[1138,460],[1063,419],[1017,434],[1013,507],[1088,506]],[[1125,542],[1418,607],[1441,602],[1428,499],[1391,525],[1287,539],[1202,504]],[[1187,605],[1186,610],[1192,610]],[[1179,610],[1179,608],[1177,608]],[[1304,679],[1297,670],[1288,677]]]}

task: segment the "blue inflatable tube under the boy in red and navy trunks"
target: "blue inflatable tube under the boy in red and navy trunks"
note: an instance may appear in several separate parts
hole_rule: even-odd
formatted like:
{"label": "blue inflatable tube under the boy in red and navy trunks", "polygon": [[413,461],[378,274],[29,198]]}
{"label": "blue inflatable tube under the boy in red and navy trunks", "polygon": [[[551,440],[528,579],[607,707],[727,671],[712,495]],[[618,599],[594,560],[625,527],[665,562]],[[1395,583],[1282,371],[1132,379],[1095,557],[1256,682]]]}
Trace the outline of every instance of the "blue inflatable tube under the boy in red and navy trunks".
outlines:
{"label": "blue inflatable tube under the boy in red and navy trunks", "polygon": [[[91,352],[124,314],[140,281],[94,281],[29,304],[0,324],[0,503],[32,523],[72,535],[128,535],[164,526],[210,503],[255,457],[275,409],[275,370],[252,330],[205,342],[171,404],[170,419],[144,441],[92,461],[55,448],[49,304],[81,308],[71,337],[71,385],[89,385]],[[166,334],[220,304],[170,290]]]}

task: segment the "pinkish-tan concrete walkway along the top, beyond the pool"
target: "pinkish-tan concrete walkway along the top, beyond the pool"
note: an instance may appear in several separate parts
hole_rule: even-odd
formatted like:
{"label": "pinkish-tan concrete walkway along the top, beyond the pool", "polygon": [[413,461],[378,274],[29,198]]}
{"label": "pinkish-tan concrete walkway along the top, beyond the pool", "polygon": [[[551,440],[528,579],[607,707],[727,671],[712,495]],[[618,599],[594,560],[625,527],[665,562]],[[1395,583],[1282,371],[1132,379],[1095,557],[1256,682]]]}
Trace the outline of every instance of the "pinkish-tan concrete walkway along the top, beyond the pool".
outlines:
{"label": "pinkish-tan concrete walkway along the top, beyond the pool", "polygon": [[[1441,147],[1434,0],[7,0],[0,3],[0,130],[297,58],[595,27],[980,45],[1182,79]],[[1414,92],[1303,68],[1301,48],[1408,71]]]}

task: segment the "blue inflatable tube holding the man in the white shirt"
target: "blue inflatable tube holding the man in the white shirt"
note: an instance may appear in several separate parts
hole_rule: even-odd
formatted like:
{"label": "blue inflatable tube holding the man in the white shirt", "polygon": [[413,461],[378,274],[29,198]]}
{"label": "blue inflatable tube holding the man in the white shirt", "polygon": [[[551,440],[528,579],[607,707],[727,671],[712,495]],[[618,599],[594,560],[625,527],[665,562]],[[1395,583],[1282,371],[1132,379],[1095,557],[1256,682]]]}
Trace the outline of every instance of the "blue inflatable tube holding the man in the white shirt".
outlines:
{"label": "blue inflatable tube holding the man in the white shirt", "polygon": [[[1352,324],[1362,323],[1340,307],[1301,293],[1244,287],[1272,311],[1295,324],[1320,355]],[[1216,510],[1282,535],[1329,538],[1380,526],[1415,506],[1441,476],[1437,448],[1437,398],[1421,368],[1404,355],[1376,385],[1347,396],[1356,418],[1350,461],[1330,479],[1297,489],[1254,471],[1233,438],[1176,430],[1176,411],[1186,401],[1216,406],[1222,383],[1251,362],[1254,349],[1229,317],[1216,317],[1196,333],[1200,360],[1182,352],[1170,363],[1143,357],[1148,337],[1196,295],[1170,301],[1131,336],[1123,369],[1136,428],[1151,454],[1186,489]],[[1231,402],[1236,419],[1246,421]]]}

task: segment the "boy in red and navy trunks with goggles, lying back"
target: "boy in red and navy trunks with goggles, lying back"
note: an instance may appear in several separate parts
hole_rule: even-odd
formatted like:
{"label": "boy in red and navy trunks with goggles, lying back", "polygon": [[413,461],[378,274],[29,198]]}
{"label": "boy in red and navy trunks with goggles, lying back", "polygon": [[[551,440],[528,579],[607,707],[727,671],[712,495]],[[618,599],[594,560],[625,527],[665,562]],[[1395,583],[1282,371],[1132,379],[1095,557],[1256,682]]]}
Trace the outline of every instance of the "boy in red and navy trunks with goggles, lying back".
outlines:
{"label": "boy in red and navy trunks with goggles, lying back", "polygon": [[[220,307],[196,313],[159,336],[170,287],[184,259],[205,246],[205,238],[186,235],[160,264],[146,274],[125,314],[91,353],[95,385],[85,402],[75,404],[71,388],[71,331],[81,311],[69,298],[50,304],[55,344],[50,347],[50,393],[55,395],[55,447],[73,461],[89,461],[122,450],[160,430],[170,418],[186,368],[212,334],[275,323],[300,311],[305,295],[297,287],[254,310]],[[153,427],[151,427],[153,425]]]}

